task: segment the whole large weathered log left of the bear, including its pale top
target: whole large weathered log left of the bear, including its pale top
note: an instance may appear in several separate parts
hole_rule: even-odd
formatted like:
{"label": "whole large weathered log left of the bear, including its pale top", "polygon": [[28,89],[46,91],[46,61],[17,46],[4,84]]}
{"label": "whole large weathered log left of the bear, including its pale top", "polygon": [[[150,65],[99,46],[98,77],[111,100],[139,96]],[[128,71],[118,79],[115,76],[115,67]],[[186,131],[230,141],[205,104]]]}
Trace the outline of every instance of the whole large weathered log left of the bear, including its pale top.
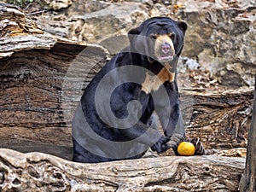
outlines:
{"label": "whole large weathered log left of the bear, including its pale top", "polygon": [[66,114],[108,52],[44,32],[15,6],[0,4],[0,15],[0,148],[70,159],[72,114]]}

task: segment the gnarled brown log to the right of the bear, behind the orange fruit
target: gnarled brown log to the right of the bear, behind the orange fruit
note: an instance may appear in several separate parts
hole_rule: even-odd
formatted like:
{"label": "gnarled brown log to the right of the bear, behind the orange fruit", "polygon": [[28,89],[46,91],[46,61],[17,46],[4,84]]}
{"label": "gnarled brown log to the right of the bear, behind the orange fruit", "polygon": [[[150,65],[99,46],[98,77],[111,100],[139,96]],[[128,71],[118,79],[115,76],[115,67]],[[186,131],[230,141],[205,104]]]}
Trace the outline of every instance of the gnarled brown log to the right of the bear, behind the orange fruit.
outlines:
{"label": "gnarled brown log to the right of the bear, behind the orange fruit", "polygon": [[[190,94],[194,99],[186,130],[188,137],[200,137],[207,148],[247,147],[253,112],[253,88],[183,94]],[[187,114],[186,109],[183,114]]]}

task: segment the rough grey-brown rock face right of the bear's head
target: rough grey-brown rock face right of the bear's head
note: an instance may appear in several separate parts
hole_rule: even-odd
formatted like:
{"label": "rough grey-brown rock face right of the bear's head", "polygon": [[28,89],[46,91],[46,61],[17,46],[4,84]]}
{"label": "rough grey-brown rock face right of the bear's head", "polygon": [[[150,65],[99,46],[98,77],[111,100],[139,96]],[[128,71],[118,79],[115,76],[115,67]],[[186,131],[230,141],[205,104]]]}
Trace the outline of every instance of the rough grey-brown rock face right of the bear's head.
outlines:
{"label": "rough grey-brown rock face right of the bear's head", "polygon": [[216,4],[192,6],[189,2],[179,12],[189,24],[183,55],[196,58],[201,69],[210,71],[226,86],[252,86],[256,72],[256,17],[250,13],[253,7],[211,9]]}

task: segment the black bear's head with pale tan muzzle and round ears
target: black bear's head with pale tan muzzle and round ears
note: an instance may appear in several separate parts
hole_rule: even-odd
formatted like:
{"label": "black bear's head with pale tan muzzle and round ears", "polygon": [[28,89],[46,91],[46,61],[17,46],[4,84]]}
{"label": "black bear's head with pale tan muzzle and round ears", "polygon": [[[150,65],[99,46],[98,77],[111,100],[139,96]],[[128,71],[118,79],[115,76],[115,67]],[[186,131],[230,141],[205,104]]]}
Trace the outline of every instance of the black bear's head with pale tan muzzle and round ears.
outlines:
{"label": "black bear's head with pale tan muzzle and round ears", "polygon": [[168,17],[153,17],[128,32],[131,52],[144,55],[150,63],[166,63],[183,49],[187,24]]}

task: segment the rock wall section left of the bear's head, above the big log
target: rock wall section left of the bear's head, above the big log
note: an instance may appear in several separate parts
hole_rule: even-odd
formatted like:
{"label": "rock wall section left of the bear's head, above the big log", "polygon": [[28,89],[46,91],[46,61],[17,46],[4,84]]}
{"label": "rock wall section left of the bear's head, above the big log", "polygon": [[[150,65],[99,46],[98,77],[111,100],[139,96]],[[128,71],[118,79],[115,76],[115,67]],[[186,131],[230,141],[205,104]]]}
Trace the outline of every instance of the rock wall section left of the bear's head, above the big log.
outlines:
{"label": "rock wall section left of the bear's head, above the big log", "polygon": [[142,3],[78,1],[66,13],[41,15],[37,17],[37,22],[48,32],[99,43],[103,39],[126,34],[128,29],[145,19],[148,19],[148,15]]}

